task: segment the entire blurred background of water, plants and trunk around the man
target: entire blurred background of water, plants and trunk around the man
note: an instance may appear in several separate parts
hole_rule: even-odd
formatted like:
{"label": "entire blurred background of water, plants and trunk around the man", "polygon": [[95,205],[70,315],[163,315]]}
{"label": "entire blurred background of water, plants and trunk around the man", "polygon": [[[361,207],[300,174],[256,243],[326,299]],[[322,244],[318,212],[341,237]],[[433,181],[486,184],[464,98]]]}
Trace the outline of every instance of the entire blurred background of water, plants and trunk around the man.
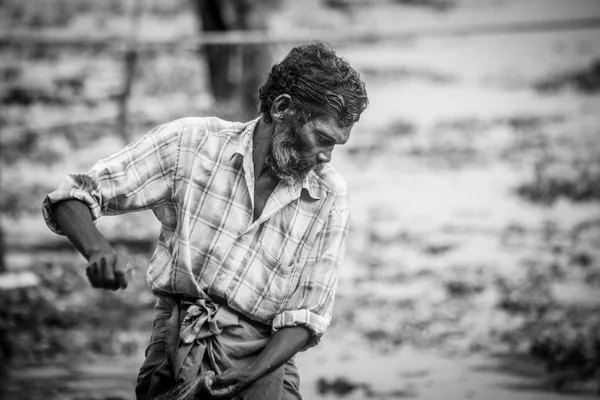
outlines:
{"label": "entire blurred background of water, plants and trunk around the man", "polygon": [[352,229],[306,399],[586,399],[600,389],[597,0],[0,1],[0,398],[133,399],[150,212],[92,290],[41,202],[185,116],[248,120],[289,49],[330,42],[370,106],[333,164]]}

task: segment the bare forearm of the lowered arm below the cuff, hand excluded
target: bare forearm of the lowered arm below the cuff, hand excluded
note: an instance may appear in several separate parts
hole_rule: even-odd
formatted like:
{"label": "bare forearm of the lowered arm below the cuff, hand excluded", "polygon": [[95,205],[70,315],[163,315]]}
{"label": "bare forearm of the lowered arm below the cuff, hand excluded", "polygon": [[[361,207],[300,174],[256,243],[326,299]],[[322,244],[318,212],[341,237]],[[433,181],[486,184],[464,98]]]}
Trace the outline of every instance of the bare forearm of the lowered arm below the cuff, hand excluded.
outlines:
{"label": "bare forearm of the lowered arm below the cuff, hand excluded", "polygon": [[258,358],[246,369],[252,370],[255,380],[279,368],[308,342],[311,332],[304,326],[282,328],[275,332]]}

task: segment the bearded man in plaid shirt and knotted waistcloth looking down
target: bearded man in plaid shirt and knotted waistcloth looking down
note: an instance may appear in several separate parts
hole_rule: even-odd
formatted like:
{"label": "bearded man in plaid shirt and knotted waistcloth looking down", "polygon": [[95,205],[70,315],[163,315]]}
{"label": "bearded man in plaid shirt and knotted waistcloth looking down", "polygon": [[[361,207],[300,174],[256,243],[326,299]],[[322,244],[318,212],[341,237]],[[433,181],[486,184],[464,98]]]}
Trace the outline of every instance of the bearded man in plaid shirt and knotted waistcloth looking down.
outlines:
{"label": "bearded man in plaid shirt and knotted waistcloth looking down", "polygon": [[259,103],[249,123],[159,126],[44,201],[96,288],[125,288],[128,262],[95,220],[152,209],[162,224],[140,400],[301,398],[292,357],[329,325],[348,233],[346,185],[327,163],[368,100],[356,71],[315,43],[273,66]]}

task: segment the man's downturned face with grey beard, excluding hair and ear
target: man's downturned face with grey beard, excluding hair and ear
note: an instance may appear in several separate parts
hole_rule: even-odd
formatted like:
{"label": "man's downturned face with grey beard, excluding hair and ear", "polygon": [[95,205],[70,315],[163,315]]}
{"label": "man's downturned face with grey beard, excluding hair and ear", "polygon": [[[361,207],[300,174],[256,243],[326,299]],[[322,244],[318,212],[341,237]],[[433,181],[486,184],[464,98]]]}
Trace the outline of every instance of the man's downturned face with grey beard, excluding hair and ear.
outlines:
{"label": "man's downturned face with grey beard, excluding hair and ear", "polygon": [[331,115],[310,119],[300,126],[297,119],[276,126],[269,164],[271,171],[290,184],[302,181],[312,170],[331,161],[335,145],[350,138],[352,127],[340,127]]}

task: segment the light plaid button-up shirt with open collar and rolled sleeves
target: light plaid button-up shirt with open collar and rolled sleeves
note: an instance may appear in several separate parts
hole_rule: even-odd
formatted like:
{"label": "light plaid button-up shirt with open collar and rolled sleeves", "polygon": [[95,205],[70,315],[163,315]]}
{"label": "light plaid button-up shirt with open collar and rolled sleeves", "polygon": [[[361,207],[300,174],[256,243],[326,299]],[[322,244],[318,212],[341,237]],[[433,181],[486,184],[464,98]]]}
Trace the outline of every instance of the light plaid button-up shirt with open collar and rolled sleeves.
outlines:
{"label": "light plaid button-up shirt with open collar and rolled sleeves", "polygon": [[348,234],[343,178],[326,165],[280,181],[253,222],[252,136],[258,120],[184,118],[72,174],[44,200],[79,199],[96,221],[152,209],[162,224],[147,280],[156,295],[202,292],[273,331],[305,325],[315,345],[331,321]]}

